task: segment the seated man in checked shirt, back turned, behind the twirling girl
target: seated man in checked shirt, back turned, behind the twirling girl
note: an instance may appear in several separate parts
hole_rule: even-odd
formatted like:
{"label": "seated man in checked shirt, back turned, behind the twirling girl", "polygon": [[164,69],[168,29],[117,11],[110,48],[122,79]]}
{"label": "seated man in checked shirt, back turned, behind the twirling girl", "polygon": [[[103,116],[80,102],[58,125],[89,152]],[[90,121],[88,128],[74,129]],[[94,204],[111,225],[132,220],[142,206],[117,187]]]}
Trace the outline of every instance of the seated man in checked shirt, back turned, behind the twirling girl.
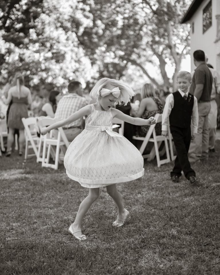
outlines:
{"label": "seated man in checked shirt, back turned, behind the twirling girl", "polygon": [[[68,95],[64,95],[60,99],[54,118],[57,120],[66,119],[82,107],[87,105],[86,99],[82,96],[82,85],[78,81],[71,81],[68,85]],[[84,129],[83,119],[80,118],[63,127],[66,137],[69,142],[82,132]]]}

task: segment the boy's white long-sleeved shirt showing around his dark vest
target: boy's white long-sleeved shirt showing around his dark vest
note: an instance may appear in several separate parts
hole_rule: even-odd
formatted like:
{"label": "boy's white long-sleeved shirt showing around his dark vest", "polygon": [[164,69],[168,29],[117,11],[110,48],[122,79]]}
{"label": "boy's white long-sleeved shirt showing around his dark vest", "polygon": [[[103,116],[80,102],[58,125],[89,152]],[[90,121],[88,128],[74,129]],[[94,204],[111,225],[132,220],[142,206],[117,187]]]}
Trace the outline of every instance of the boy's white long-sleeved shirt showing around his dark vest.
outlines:
{"label": "boy's white long-sleeved shirt showing around his dark vest", "polygon": [[[182,97],[185,95],[180,89],[178,89],[178,92]],[[186,96],[188,97],[188,93],[186,93]],[[198,123],[199,123],[199,113],[198,113],[198,104],[197,104],[197,98],[194,97],[194,104],[192,108],[192,117],[191,117],[191,125],[192,125],[192,133],[196,134],[198,130]],[[162,114],[162,131],[168,131],[168,125],[169,125],[169,115],[171,113],[171,110],[174,106],[174,97],[173,94],[168,95],[166,98],[163,114]]]}

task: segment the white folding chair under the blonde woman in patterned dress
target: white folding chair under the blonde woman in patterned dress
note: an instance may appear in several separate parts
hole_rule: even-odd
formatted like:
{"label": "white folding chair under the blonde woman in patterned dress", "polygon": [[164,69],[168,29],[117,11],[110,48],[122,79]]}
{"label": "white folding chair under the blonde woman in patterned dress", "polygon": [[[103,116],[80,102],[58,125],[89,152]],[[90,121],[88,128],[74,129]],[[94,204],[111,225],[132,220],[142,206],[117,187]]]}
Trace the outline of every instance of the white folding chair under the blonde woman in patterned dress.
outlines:
{"label": "white folding chair under the blonde woman in patterned dress", "polygon": [[[154,116],[154,118],[156,119],[157,123],[162,122],[162,114],[156,114]],[[156,155],[157,166],[160,167],[160,165],[170,162],[170,154],[169,154],[168,142],[167,142],[166,137],[164,137],[163,135],[156,135],[155,126],[156,126],[156,124],[150,125],[145,137],[133,136],[133,139],[143,141],[142,145],[140,147],[140,150],[139,150],[140,153],[142,154],[143,158],[147,158],[148,161],[150,161],[150,160],[154,159],[154,157]],[[152,134],[153,134],[153,137],[151,137]],[[153,142],[154,147],[152,148],[150,154],[143,155],[144,149],[146,148],[148,142]],[[159,151],[159,148],[160,148],[160,145],[162,144],[162,142],[164,142],[165,152],[166,152],[166,159],[164,159],[164,160],[160,160],[161,150]]]}

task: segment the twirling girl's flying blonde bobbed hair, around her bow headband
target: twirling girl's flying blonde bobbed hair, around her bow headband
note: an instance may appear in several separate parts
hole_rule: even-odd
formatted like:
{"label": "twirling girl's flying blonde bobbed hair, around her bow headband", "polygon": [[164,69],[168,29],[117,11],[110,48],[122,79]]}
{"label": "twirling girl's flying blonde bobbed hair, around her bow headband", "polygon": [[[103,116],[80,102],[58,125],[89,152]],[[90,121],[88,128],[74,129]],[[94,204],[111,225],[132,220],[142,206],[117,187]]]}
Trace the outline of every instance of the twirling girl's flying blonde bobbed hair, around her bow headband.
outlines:
{"label": "twirling girl's flying blonde bobbed hair, around her bow headband", "polygon": [[114,87],[119,87],[121,93],[119,98],[117,99],[117,101],[115,101],[116,104],[124,104],[127,105],[127,103],[131,100],[131,97],[133,97],[135,95],[134,91],[131,89],[131,87],[121,81],[121,80],[117,80],[117,79],[111,79],[111,78],[101,78],[99,79],[95,86],[93,87],[93,89],[91,90],[89,96],[93,99],[95,99],[96,101],[99,100],[99,97],[101,97],[101,89],[105,88],[106,85],[112,85]]}

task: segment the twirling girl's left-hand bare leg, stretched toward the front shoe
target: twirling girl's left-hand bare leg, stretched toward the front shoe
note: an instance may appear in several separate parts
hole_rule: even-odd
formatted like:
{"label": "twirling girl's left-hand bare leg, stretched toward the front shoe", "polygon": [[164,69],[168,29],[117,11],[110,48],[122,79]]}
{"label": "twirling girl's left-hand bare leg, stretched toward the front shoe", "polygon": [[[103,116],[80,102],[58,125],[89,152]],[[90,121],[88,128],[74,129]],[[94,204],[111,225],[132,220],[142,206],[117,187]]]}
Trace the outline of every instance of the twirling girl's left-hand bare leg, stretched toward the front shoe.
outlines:
{"label": "twirling girl's left-hand bare leg, stretched toward the front shoe", "polygon": [[82,220],[85,217],[86,212],[89,210],[89,207],[98,199],[98,197],[99,188],[89,188],[89,195],[80,203],[75,221],[72,224],[74,232],[79,231],[74,234],[76,237],[82,235],[82,232],[80,232]]}

